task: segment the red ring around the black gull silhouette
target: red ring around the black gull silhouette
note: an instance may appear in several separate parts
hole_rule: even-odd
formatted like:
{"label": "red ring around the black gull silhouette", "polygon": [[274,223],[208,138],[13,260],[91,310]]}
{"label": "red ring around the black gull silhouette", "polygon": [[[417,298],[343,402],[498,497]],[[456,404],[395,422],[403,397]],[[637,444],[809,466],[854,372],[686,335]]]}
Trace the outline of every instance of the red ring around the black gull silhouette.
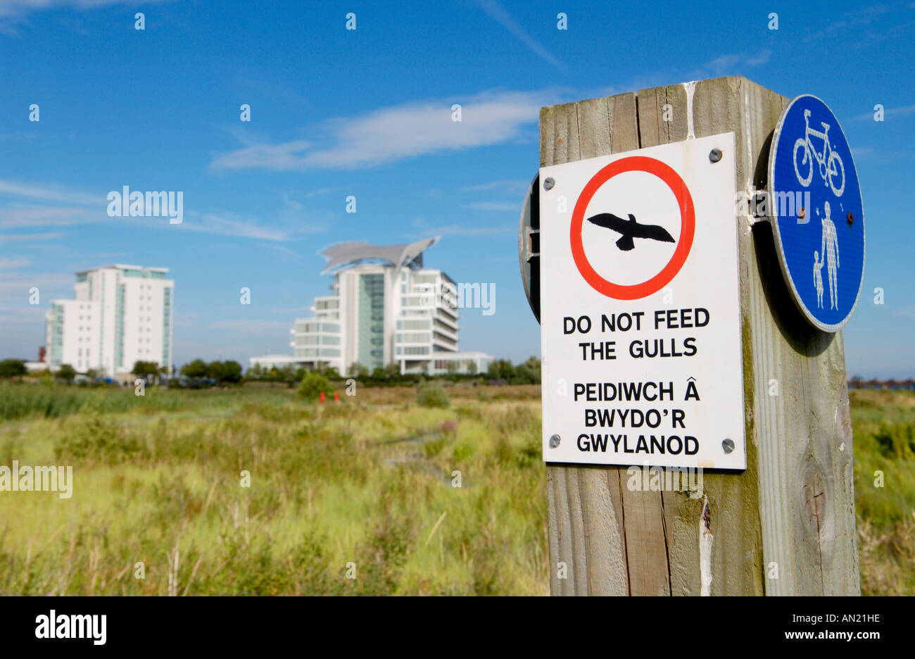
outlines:
{"label": "red ring around the black gull silhouette", "polygon": [[[673,251],[671,260],[668,261],[661,272],[651,277],[641,284],[623,285],[614,284],[598,275],[591,267],[585,255],[585,247],[581,241],[582,222],[585,220],[585,211],[588,203],[597,192],[600,186],[604,185],[610,178],[628,171],[643,171],[647,174],[661,178],[667,184],[667,187],[673,192],[680,207],[680,241]],[[680,178],[673,167],[665,165],[660,160],[647,156],[630,156],[614,160],[607,167],[602,168],[587,182],[585,189],[581,191],[576,201],[575,211],[572,212],[572,226],[569,230],[569,239],[572,243],[572,257],[575,259],[575,265],[578,272],[585,277],[585,281],[594,288],[598,293],[615,299],[640,299],[641,297],[650,296],[656,293],[664,286],[671,282],[674,276],[680,272],[686,262],[690,249],[693,247],[693,235],[695,232],[695,209],[693,207],[693,197],[686,188],[684,179]]]}

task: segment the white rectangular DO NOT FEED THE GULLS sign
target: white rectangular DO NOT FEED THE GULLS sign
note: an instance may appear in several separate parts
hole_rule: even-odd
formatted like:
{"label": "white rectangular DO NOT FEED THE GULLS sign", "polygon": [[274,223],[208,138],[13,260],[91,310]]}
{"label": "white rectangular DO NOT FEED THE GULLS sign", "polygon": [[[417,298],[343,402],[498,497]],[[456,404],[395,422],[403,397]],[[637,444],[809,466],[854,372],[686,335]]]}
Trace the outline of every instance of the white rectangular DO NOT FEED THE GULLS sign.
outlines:
{"label": "white rectangular DO NOT FEED THE GULLS sign", "polygon": [[540,170],[544,460],[747,468],[734,134]]}

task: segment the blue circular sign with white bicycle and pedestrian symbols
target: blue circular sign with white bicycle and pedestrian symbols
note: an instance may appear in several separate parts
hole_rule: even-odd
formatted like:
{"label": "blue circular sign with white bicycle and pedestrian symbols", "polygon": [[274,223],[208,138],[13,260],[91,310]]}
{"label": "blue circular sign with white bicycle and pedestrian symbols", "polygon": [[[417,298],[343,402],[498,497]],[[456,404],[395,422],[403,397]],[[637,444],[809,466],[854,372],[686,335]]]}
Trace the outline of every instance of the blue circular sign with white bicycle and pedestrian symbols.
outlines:
{"label": "blue circular sign with white bicycle and pedestrian symbols", "polygon": [[769,154],[768,215],[781,272],[817,328],[842,328],[864,280],[864,209],[851,148],[826,103],[798,96]]}

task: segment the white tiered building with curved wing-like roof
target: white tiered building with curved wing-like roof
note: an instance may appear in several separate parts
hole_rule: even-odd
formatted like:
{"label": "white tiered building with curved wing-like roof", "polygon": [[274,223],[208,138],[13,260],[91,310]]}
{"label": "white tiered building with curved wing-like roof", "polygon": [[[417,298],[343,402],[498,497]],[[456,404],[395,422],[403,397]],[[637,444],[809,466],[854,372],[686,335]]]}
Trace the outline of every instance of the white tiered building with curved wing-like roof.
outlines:
{"label": "white tiered building with curved wing-like roof", "polygon": [[293,354],[252,357],[251,365],[332,367],[369,372],[395,363],[401,373],[485,372],[490,355],[458,351],[458,305],[442,288],[454,282],[423,267],[436,242],[372,245],[342,243],[325,250],[321,274],[332,273],[331,295],[315,298],[314,316],[296,319]]}

